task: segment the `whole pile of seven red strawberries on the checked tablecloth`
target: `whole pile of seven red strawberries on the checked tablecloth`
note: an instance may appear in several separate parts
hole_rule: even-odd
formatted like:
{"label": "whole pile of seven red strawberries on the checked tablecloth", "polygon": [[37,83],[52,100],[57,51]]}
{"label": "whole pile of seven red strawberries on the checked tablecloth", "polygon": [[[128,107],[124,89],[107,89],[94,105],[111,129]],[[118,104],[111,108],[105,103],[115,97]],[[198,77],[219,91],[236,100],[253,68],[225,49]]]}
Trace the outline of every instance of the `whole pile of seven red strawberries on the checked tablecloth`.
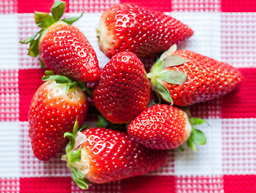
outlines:
{"label": "whole pile of seven red strawberries on the checked tablecloth", "polygon": [[[101,15],[97,38],[110,60],[100,70],[93,47],[71,25],[82,15],[60,20],[64,10],[65,3],[57,1],[51,14],[35,12],[41,30],[21,41],[30,43],[28,54],[39,55],[51,70],[28,112],[36,158],[50,159],[66,146],[62,159],[86,189],[156,170],[167,161],[167,150],[184,142],[192,150],[205,144],[204,133],[194,128],[204,120],[191,117],[185,107],[237,88],[242,76],[236,68],[176,51],[175,44],[192,36],[192,29],[166,14],[121,4]],[[147,73],[140,59],[161,52]],[[88,97],[101,113],[95,128],[82,126]]]}

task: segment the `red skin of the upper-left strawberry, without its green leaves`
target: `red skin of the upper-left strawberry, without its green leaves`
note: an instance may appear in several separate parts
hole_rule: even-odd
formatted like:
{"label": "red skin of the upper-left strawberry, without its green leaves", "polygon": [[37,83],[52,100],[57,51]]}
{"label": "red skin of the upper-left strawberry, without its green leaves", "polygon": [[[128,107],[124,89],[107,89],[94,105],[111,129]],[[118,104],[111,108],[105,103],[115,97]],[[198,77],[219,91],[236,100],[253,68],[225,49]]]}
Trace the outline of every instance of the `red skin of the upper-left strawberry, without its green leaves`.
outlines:
{"label": "red skin of the upper-left strawberry, without its green leaves", "polygon": [[39,40],[43,63],[57,74],[81,82],[96,82],[100,75],[97,55],[76,27],[56,22],[43,32]]}

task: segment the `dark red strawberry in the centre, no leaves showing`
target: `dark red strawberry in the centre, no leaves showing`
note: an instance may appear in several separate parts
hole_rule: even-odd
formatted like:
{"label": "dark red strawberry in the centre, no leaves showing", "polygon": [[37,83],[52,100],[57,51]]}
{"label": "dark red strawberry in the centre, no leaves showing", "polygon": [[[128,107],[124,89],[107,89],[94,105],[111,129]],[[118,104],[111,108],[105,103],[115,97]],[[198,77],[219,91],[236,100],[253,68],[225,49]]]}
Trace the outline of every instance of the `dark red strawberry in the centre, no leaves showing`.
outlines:
{"label": "dark red strawberry in the centre, no leaves showing", "polygon": [[108,121],[117,124],[132,121],[150,99],[150,83],[141,60],[130,51],[114,55],[102,68],[92,98]]}

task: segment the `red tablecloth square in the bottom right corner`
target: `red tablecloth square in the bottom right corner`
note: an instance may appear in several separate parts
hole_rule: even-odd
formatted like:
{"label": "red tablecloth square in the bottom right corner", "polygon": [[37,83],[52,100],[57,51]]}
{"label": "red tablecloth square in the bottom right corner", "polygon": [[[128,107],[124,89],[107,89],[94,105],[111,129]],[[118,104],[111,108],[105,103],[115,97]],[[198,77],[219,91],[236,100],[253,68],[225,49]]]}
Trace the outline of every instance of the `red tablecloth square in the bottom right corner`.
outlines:
{"label": "red tablecloth square in the bottom right corner", "polygon": [[256,175],[224,175],[225,193],[255,193]]}

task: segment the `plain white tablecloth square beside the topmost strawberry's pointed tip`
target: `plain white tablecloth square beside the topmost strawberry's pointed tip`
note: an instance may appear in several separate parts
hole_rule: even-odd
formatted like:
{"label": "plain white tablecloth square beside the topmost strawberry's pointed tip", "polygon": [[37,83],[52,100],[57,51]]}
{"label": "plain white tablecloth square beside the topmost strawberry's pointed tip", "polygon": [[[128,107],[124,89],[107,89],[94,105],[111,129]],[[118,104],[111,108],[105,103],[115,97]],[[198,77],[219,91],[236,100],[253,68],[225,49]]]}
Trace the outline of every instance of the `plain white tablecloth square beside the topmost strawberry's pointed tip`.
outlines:
{"label": "plain white tablecloth square beside the topmost strawberry's pointed tip", "polygon": [[[170,14],[170,13],[167,13]],[[171,16],[191,27],[194,34],[178,49],[195,51],[221,60],[221,13],[171,12]]]}

